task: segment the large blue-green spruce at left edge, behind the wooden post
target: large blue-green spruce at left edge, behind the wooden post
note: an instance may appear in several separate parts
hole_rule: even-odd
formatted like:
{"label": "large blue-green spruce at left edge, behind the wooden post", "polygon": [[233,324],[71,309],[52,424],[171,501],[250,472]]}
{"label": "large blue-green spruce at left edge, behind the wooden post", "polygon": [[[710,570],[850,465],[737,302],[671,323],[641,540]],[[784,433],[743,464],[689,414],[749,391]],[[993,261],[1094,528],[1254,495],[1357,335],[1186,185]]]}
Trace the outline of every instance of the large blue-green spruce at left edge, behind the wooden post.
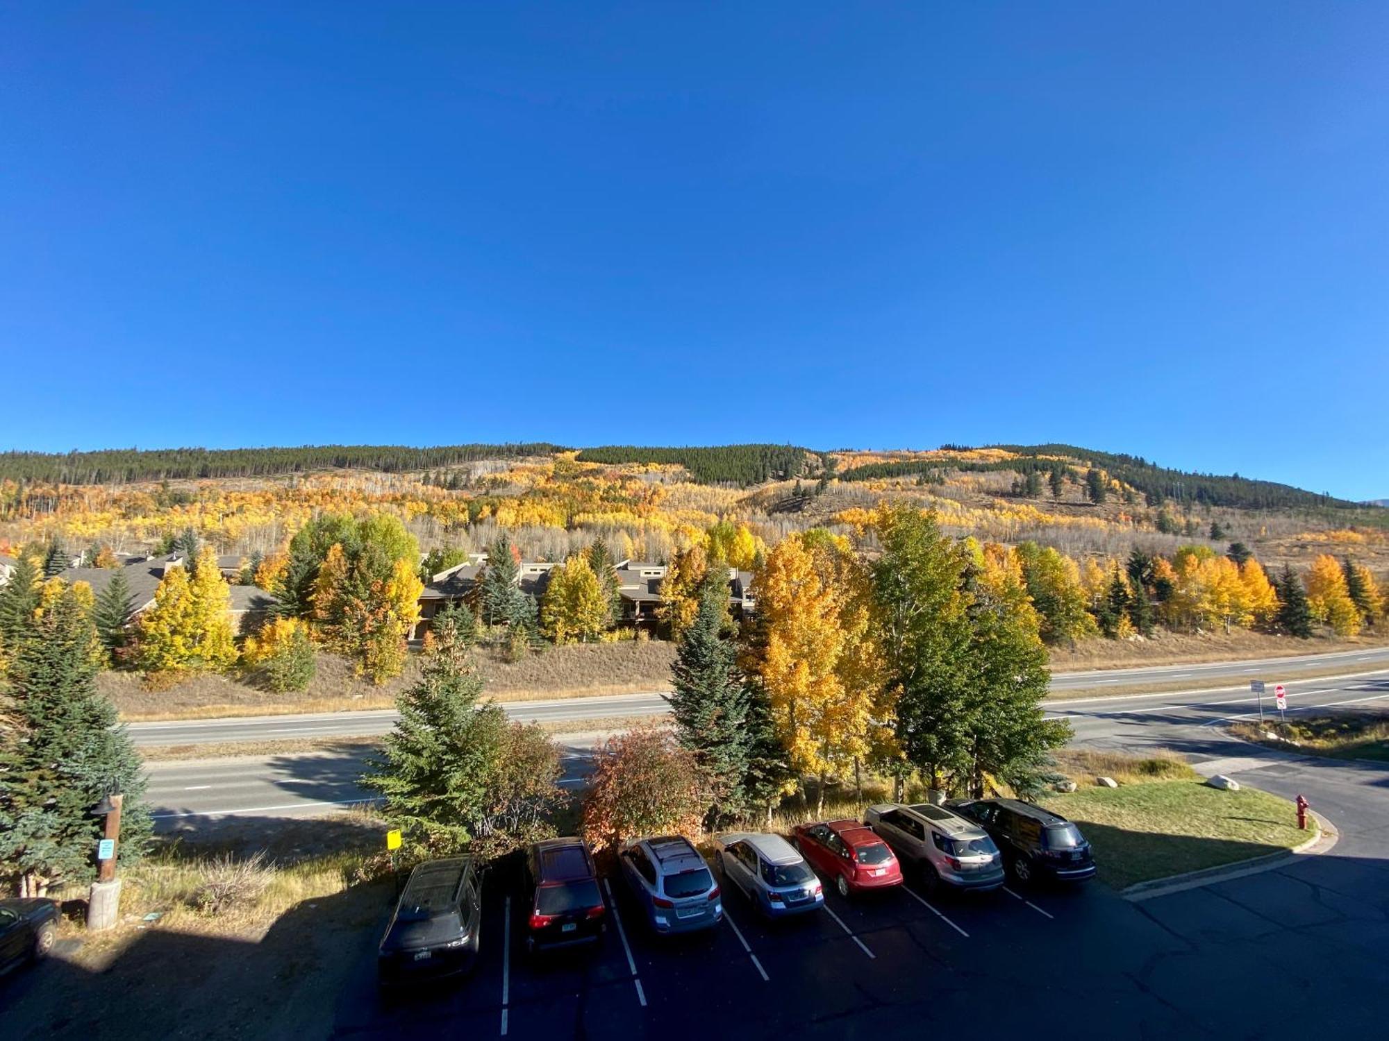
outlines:
{"label": "large blue-green spruce at left edge, behind the wooden post", "polygon": [[150,813],[140,756],[96,691],[96,630],[78,595],[65,590],[31,626],[7,663],[0,711],[0,873],[40,897],[93,877],[101,795],[125,795],[124,865],[143,856]]}

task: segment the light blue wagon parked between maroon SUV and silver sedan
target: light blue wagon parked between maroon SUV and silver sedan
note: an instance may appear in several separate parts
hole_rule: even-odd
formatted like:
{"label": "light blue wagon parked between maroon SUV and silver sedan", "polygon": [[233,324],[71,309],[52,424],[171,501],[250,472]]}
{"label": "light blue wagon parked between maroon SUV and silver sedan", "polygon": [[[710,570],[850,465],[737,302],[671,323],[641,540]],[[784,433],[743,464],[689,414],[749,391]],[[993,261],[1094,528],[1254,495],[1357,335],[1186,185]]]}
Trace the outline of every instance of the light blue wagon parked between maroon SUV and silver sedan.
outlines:
{"label": "light blue wagon parked between maroon SUV and silver sedan", "polygon": [[657,933],[692,933],[724,920],[714,874],[682,836],[626,843],[618,852],[622,879]]}

